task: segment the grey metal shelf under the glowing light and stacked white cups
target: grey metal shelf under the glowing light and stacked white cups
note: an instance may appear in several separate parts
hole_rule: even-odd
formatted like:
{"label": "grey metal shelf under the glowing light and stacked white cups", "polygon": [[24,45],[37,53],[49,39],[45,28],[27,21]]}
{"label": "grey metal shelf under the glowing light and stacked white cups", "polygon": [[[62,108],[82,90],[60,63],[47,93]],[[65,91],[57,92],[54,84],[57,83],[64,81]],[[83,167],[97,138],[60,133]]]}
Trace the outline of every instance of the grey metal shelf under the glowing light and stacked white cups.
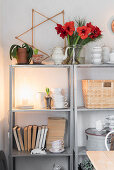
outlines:
{"label": "grey metal shelf under the glowing light and stacked white cups", "polygon": [[13,108],[12,112],[70,112],[70,108],[65,109],[16,109]]}

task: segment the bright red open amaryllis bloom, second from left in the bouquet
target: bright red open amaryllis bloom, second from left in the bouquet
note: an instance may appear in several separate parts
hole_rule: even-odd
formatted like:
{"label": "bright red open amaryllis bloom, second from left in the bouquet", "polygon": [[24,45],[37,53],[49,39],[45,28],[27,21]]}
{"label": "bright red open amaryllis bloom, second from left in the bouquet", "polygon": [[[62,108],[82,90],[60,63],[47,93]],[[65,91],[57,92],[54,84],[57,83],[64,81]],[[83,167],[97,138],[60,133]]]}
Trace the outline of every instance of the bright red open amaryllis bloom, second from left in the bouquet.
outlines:
{"label": "bright red open amaryllis bloom, second from left in the bouquet", "polygon": [[66,22],[65,25],[63,26],[63,29],[64,29],[70,36],[72,36],[73,32],[75,31],[74,22],[73,22],[73,21]]}

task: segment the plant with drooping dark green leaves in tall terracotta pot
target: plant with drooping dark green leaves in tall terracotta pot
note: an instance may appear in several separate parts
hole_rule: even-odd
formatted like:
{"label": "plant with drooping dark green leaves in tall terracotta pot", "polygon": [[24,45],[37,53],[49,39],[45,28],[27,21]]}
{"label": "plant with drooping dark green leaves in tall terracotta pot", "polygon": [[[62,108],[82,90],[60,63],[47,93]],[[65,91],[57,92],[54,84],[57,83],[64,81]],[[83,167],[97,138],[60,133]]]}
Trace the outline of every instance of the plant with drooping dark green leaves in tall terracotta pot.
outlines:
{"label": "plant with drooping dark green leaves in tall terracotta pot", "polygon": [[17,59],[18,64],[29,64],[33,55],[33,49],[28,44],[22,46],[13,44],[10,47],[10,59]]}

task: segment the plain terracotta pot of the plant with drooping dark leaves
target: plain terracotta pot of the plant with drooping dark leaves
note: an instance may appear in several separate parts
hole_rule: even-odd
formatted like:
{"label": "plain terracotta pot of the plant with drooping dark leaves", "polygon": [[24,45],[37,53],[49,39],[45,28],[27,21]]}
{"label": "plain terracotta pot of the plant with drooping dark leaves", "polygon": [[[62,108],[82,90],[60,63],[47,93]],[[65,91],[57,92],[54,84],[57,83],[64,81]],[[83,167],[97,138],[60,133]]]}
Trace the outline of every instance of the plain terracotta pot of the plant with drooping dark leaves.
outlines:
{"label": "plain terracotta pot of the plant with drooping dark leaves", "polygon": [[17,57],[18,57],[17,59],[18,64],[28,64],[26,48],[18,48]]}

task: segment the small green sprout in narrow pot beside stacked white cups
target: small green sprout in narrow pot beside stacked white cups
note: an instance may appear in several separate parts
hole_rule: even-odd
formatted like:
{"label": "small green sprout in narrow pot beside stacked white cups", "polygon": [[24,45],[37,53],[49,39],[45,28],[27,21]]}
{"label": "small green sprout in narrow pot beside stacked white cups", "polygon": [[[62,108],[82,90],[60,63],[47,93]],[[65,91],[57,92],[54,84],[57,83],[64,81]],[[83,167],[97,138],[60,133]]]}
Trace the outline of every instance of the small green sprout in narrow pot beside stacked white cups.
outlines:
{"label": "small green sprout in narrow pot beside stacked white cups", "polygon": [[46,104],[46,109],[51,109],[51,96],[50,96],[50,90],[49,88],[46,88],[46,96],[45,96],[45,104]]}

